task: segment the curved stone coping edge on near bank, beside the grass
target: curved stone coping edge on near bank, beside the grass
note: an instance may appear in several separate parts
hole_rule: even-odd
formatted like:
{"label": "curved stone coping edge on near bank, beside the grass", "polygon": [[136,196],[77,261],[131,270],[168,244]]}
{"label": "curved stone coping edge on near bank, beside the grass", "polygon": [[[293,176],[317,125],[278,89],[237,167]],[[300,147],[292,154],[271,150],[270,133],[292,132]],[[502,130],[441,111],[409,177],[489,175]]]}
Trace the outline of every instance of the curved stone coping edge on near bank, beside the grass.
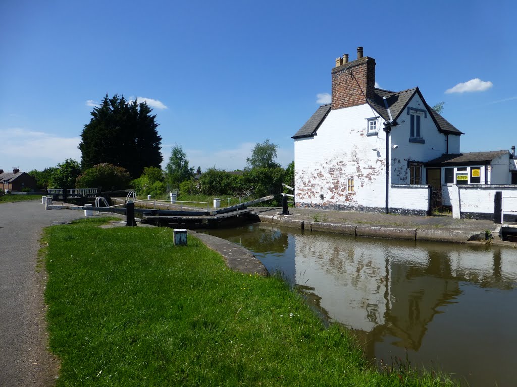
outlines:
{"label": "curved stone coping edge on near bank, beside the grass", "polygon": [[258,276],[267,277],[269,272],[262,262],[256,259],[255,255],[244,247],[238,246],[226,239],[217,236],[198,233],[188,230],[187,234],[201,239],[201,241],[209,248],[224,258],[226,266],[234,271],[245,274],[256,274]]}

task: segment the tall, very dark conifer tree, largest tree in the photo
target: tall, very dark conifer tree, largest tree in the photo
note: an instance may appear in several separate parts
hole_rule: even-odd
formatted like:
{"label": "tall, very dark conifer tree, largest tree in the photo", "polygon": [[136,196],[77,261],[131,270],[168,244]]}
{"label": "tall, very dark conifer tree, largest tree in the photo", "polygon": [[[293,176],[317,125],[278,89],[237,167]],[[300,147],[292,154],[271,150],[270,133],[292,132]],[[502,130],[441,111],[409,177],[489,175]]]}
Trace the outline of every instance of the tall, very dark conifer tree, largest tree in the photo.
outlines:
{"label": "tall, very dark conifer tree, largest tree in the photo", "polygon": [[106,94],[81,134],[83,169],[108,163],[125,168],[134,177],[140,176],[144,167],[160,167],[161,137],[151,111],[145,102],[128,103],[124,95],[108,98]]}

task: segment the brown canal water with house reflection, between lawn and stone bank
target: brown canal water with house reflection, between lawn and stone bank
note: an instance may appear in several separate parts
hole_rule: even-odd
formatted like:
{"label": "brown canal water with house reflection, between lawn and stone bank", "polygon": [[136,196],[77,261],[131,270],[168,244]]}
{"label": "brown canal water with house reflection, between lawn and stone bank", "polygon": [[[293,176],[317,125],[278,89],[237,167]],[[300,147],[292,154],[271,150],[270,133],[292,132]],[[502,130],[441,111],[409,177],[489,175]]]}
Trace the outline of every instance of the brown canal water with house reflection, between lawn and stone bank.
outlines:
{"label": "brown canal water with house reflection, between lawn and stone bank", "polygon": [[[517,385],[517,249],[354,238],[251,224],[207,231],[251,250],[368,358]],[[465,383],[466,382],[466,383]]]}

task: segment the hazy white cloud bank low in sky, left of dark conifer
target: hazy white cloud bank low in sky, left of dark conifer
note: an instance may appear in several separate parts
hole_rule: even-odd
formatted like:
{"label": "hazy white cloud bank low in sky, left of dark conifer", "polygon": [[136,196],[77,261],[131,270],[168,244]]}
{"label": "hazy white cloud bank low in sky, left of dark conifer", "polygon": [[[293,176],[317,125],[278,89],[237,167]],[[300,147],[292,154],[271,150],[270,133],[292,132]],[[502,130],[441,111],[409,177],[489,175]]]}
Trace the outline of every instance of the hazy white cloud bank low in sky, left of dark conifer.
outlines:
{"label": "hazy white cloud bank low in sky, left of dark conifer", "polygon": [[29,131],[24,128],[0,128],[2,157],[0,168],[19,166],[22,171],[54,167],[65,158],[81,160],[77,148],[80,137],[59,137],[52,133]]}

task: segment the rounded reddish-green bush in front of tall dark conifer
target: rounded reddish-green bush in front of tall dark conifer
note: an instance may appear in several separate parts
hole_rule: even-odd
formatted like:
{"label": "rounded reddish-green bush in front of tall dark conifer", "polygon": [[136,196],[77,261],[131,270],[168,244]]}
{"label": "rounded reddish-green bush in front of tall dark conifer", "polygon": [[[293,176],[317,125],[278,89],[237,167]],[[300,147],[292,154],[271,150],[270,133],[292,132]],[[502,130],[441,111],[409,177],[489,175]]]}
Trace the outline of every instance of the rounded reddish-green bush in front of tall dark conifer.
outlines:
{"label": "rounded reddish-green bush in front of tall dark conifer", "polygon": [[126,189],[130,180],[131,176],[124,168],[102,163],[85,170],[75,181],[75,187],[116,191]]}

